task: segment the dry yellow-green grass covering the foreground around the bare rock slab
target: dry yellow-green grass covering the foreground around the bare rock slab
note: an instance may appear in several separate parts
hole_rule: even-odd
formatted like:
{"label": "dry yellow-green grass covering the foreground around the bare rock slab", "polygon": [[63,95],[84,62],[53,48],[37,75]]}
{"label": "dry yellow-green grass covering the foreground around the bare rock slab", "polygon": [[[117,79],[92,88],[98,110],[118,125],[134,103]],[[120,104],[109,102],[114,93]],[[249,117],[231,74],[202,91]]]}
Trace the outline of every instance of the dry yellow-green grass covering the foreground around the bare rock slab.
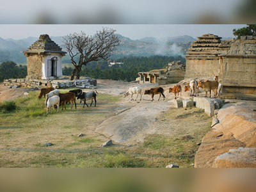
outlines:
{"label": "dry yellow-green grass covering the foreground around the bare rock slab", "polygon": [[[120,96],[100,94],[96,108],[83,108],[77,102],[77,109],[68,105],[66,111],[46,115],[44,99],[38,100],[37,95],[32,92],[15,100],[17,111],[1,114],[0,167],[164,167],[170,163],[191,167],[196,143],[211,125],[211,118],[200,109],[171,109],[159,118],[156,134],[143,143],[102,148],[99,145],[108,139],[95,129],[115,115]],[[85,136],[77,137],[80,133]],[[190,134],[193,140],[180,140],[182,134]],[[45,147],[48,142],[53,145]]]}

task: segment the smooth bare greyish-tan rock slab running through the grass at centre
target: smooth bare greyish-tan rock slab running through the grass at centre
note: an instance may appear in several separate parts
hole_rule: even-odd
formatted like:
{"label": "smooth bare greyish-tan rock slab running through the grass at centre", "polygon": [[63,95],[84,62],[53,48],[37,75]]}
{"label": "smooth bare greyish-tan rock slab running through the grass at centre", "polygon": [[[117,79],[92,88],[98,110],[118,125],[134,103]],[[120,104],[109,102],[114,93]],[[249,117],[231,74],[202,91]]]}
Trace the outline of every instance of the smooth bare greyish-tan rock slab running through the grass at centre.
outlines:
{"label": "smooth bare greyish-tan rock slab running through the grass at centre", "polygon": [[[146,89],[159,86],[158,84],[136,84],[125,83],[122,81],[98,81],[98,92],[109,93],[112,95],[122,95],[131,86],[140,86],[144,93]],[[153,134],[159,129],[157,120],[163,117],[163,113],[173,107],[169,100],[174,99],[173,93],[168,93],[170,85],[162,86],[166,99],[159,95],[154,96],[151,101],[150,95],[143,95],[142,100],[131,100],[131,96],[122,99],[115,109],[115,116],[111,116],[102,124],[100,124],[96,132],[104,134],[107,138],[111,138],[118,143],[134,143],[142,142],[147,134]],[[188,93],[185,93],[188,95]],[[136,95],[133,96],[136,99]],[[138,97],[140,98],[140,97]],[[161,127],[162,132],[166,127]],[[166,131],[167,132],[167,131]]]}

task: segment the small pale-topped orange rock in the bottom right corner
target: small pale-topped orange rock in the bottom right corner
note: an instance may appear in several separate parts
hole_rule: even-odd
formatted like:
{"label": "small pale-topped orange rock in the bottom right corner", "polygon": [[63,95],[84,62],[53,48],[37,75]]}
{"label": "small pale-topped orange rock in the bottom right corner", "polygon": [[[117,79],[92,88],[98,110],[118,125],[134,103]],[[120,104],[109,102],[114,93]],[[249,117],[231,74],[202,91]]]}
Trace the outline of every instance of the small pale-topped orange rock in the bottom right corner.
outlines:
{"label": "small pale-topped orange rock in the bottom right corner", "polygon": [[256,148],[230,149],[216,157],[214,168],[256,168]]}

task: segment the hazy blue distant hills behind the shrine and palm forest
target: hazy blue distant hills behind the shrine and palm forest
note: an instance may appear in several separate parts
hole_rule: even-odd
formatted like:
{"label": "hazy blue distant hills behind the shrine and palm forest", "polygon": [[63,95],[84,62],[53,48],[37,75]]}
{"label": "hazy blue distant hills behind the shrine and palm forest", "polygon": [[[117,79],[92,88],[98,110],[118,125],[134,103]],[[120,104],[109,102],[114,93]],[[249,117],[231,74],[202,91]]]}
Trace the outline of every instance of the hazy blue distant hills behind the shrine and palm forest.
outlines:
{"label": "hazy blue distant hills behind the shrine and palm forest", "polygon": [[[116,34],[121,40],[121,46],[116,49],[111,58],[123,58],[126,56],[177,56],[186,54],[195,39],[188,35],[154,38],[145,37],[139,40],[131,40],[120,34]],[[65,45],[62,42],[62,36],[51,36],[52,40],[60,45],[65,51]],[[4,40],[0,37],[0,62],[12,60],[16,63],[26,63],[26,57],[23,51],[28,50],[38,37],[29,36],[21,40],[8,38]],[[63,57],[63,62],[68,62],[68,56]]]}

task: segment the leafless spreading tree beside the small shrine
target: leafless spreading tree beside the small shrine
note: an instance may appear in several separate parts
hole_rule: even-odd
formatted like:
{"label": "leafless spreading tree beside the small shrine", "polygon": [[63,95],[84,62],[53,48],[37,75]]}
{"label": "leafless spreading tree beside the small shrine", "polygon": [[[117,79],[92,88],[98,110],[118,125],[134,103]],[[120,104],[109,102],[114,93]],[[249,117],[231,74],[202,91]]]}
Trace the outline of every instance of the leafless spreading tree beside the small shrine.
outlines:
{"label": "leafless spreading tree beside the small shrine", "polygon": [[[74,70],[71,74],[73,80],[76,74],[76,79],[80,78],[80,72],[83,65],[87,65],[90,61],[106,60],[111,56],[117,46],[120,45],[120,40],[115,33],[116,30],[102,28],[101,31],[93,36],[81,33],[72,33],[63,37],[63,43],[66,45],[71,62],[74,65]],[[75,58],[79,57],[76,62]]]}

